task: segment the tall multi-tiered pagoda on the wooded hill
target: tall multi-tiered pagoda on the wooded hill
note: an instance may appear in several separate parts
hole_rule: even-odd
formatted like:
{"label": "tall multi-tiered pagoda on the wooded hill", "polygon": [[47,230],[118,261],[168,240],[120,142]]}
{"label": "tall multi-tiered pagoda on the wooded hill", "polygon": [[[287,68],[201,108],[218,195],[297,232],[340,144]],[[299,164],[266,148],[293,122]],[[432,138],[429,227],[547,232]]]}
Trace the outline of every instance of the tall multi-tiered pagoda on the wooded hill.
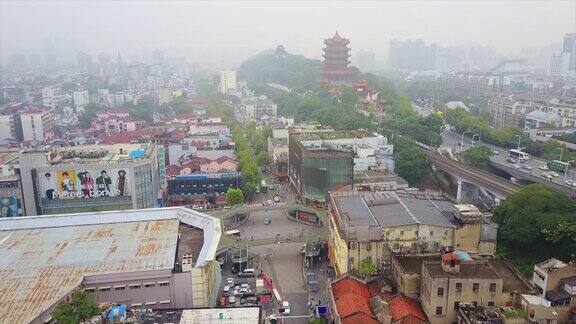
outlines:
{"label": "tall multi-tiered pagoda on the wooded hill", "polygon": [[324,40],[324,63],[322,64],[322,82],[347,83],[350,81],[350,40],[342,38],[338,32],[332,38]]}

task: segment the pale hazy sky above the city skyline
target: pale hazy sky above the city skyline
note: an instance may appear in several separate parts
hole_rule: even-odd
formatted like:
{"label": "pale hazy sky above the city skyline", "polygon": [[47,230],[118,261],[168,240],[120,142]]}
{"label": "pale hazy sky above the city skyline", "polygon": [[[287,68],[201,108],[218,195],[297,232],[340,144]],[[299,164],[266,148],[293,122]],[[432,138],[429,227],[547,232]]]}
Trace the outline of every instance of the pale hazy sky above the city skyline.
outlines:
{"label": "pale hazy sky above the city skyline", "polygon": [[6,1],[0,58],[56,46],[92,54],[144,48],[194,60],[233,62],[284,44],[320,57],[338,30],[353,51],[384,57],[391,38],[476,43],[501,53],[561,42],[575,32],[576,1]]}

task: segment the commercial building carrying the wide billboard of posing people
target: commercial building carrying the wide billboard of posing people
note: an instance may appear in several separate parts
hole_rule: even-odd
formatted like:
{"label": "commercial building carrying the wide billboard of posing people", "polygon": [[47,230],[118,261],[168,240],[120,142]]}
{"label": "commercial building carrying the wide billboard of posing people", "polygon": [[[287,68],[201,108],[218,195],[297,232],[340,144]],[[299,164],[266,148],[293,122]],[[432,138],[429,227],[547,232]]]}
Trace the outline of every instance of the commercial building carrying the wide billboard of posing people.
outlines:
{"label": "commercial building carrying the wide billboard of posing people", "polygon": [[27,215],[154,207],[160,188],[155,144],[24,150]]}

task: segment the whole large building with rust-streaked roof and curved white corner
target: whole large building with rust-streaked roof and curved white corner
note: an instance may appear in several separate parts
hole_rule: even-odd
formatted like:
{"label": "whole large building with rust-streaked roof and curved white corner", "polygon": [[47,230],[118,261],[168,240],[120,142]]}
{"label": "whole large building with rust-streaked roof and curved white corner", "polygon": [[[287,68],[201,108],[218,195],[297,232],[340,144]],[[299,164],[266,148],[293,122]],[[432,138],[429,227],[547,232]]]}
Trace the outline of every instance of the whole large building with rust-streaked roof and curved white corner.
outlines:
{"label": "whole large building with rust-streaked roof and curved white corner", "polygon": [[0,322],[48,323],[82,289],[131,308],[213,307],[220,221],[187,208],[0,219]]}

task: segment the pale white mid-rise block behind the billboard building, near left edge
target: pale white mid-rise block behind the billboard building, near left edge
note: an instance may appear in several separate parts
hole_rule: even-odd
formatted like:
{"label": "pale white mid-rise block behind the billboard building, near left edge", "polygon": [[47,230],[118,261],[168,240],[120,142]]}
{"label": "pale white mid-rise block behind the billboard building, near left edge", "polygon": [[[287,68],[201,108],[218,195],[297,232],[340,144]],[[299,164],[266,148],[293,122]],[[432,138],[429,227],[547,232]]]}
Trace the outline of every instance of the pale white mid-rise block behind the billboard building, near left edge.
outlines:
{"label": "pale white mid-rise block behind the billboard building, near left edge", "polygon": [[25,141],[42,143],[52,129],[53,116],[48,109],[30,108],[20,113],[22,136]]}

